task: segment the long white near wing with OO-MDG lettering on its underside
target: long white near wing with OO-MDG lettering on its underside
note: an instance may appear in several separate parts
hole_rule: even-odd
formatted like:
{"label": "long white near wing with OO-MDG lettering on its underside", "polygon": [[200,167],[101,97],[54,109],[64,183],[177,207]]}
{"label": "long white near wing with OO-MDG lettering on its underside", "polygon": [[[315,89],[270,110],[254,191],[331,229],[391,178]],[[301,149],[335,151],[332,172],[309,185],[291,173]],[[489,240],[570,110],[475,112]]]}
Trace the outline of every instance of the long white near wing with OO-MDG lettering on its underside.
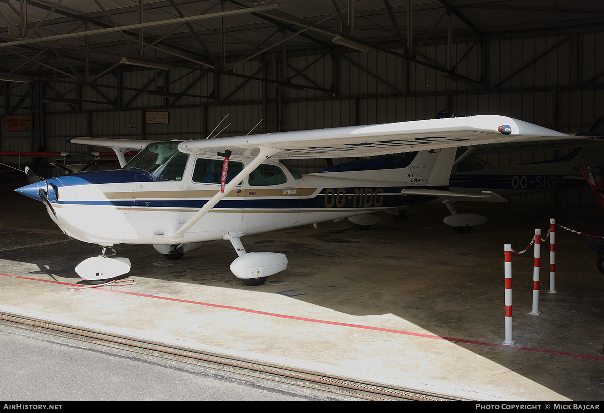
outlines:
{"label": "long white near wing with OO-MDG lettering on its underside", "polygon": [[274,150],[276,159],[304,159],[366,157],[542,139],[568,139],[568,135],[507,116],[476,115],[187,140],[179,145],[179,149],[188,153],[214,154],[230,150],[233,155],[255,156],[259,148],[268,147]]}

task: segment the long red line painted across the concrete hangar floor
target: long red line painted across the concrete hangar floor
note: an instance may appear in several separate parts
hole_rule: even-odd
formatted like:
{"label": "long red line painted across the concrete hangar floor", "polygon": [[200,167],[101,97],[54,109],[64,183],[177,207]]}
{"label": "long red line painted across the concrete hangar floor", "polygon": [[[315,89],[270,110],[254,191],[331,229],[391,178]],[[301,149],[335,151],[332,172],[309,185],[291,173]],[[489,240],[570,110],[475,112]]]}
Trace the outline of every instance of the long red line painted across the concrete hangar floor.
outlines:
{"label": "long red line painted across the concrete hangar floor", "polygon": [[[11,276],[9,274],[0,274],[0,276],[18,278],[18,279],[22,279],[22,280],[40,281],[40,282],[52,283],[52,284],[60,284],[60,285],[66,285],[66,286],[76,286],[76,287],[81,286],[78,284],[60,283],[60,282],[57,282],[54,280],[40,280],[40,279],[36,279],[36,278]],[[198,306],[222,308],[222,309],[227,309],[227,310],[248,312],[248,313],[252,313],[252,314],[268,315],[270,317],[288,318],[289,320],[309,321],[310,323],[331,324],[333,326],[353,327],[356,329],[365,329],[365,330],[376,330],[376,331],[382,331],[382,332],[387,332],[387,333],[396,333],[396,334],[403,334],[403,335],[408,335],[408,336],[432,338],[432,339],[436,339],[436,340],[444,340],[444,341],[458,342],[458,343],[464,343],[464,344],[484,345],[486,347],[509,348],[512,350],[523,350],[525,352],[545,353],[545,354],[551,354],[551,355],[555,355],[555,356],[568,356],[568,357],[575,357],[575,358],[581,358],[581,359],[604,361],[604,357],[582,355],[582,354],[577,354],[577,353],[558,352],[556,350],[545,350],[543,348],[519,347],[519,346],[515,346],[515,345],[495,344],[492,342],[466,340],[466,339],[462,339],[462,338],[453,338],[453,337],[443,337],[443,336],[437,336],[437,335],[432,335],[432,334],[414,333],[414,332],[403,331],[403,330],[384,329],[382,327],[365,326],[364,324],[340,323],[338,321],[319,320],[317,318],[297,317],[295,315],[286,315],[286,314],[272,313],[272,312],[267,312],[267,311],[252,310],[252,309],[242,308],[242,307],[223,306],[220,304],[202,303],[200,301],[178,300],[177,298],[161,297],[159,295],[140,294],[138,292],[127,292],[127,291],[120,291],[120,290],[109,289],[109,288],[98,287],[98,288],[93,288],[93,289],[101,290],[101,291],[117,292],[119,294],[135,295],[137,297],[155,298],[156,300],[173,301],[175,303],[195,304]]]}

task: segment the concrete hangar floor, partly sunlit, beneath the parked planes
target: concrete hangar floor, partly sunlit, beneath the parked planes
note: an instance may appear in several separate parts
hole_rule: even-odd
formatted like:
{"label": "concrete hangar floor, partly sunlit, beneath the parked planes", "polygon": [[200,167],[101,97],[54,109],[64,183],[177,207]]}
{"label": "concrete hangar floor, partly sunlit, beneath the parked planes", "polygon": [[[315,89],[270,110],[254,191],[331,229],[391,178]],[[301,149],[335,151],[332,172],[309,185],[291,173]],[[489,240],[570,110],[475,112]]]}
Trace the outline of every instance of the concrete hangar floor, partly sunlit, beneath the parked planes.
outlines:
{"label": "concrete hangar floor, partly sunlit, beneath the parked planes", "polygon": [[502,344],[504,244],[524,250],[535,228],[545,238],[549,218],[604,234],[599,207],[575,209],[581,224],[568,209],[466,205],[489,216],[468,234],[443,224],[445,207],[426,207],[368,230],[344,220],[246,236],[246,250],[289,258],[258,287],[230,273],[228,241],[177,261],[120,245],[138,284],[68,291],[98,246],[67,238],[13,187],[0,188],[0,312],[469,400],[604,399],[604,275],[587,237],[556,228],[555,293],[542,243],[538,315],[533,250],[513,254],[515,344]]}

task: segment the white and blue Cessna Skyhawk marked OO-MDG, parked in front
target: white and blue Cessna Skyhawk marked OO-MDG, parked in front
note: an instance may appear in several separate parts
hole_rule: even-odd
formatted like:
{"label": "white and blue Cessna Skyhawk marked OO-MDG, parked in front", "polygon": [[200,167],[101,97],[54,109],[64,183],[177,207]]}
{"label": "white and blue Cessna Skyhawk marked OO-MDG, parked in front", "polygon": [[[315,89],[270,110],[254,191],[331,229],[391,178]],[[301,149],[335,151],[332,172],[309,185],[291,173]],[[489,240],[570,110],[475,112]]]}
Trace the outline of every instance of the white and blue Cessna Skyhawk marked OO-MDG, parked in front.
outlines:
{"label": "white and blue Cessna Skyhawk marked OO-MDG, parked in front", "polygon": [[[112,148],[121,169],[41,180],[16,191],[45,203],[63,232],[98,244],[102,253],[79,263],[91,282],[130,271],[114,257],[117,244],[150,244],[169,259],[228,239],[237,252],[231,271],[249,286],[286,269],[284,254],[246,253],[243,235],[315,224],[438,197],[504,201],[490,192],[449,191],[457,147],[567,134],[498,115],[429,119],[203,140],[151,142],[72,138]],[[124,153],[141,150],[130,162]],[[279,160],[411,153],[405,168],[300,175]],[[33,183],[31,183],[33,182]],[[113,254],[109,254],[113,251]]]}

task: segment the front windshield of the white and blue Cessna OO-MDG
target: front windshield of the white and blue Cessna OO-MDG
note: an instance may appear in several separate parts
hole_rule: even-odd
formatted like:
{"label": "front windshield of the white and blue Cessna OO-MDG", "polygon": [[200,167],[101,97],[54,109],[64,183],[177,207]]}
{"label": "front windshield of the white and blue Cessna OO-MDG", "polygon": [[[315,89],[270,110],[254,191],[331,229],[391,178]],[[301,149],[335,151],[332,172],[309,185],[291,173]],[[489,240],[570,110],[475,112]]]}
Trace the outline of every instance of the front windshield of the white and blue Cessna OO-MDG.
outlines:
{"label": "front windshield of the white and blue Cessna OO-MDG", "polygon": [[182,180],[188,154],[178,150],[178,140],[149,143],[144,150],[126,163],[124,168],[137,168],[169,181]]}

